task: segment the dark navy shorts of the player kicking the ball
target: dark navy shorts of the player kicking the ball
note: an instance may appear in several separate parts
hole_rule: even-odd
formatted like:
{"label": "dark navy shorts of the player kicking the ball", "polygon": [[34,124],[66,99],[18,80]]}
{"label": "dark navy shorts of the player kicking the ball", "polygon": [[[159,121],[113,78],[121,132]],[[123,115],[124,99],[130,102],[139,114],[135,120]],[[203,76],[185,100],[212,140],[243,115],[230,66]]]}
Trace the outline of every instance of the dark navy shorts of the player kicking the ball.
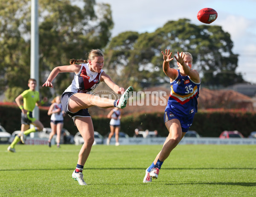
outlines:
{"label": "dark navy shorts of the player kicking the ball", "polygon": [[66,92],[66,93],[63,93],[62,96],[61,96],[61,105],[63,107],[63,110],[64,112],[70,116],[70,118],[73,119],[73,121],[75,122],[75,118],[78,116],[78,117],[91,117],[90,116],[90,113],[88,112],[88,109],[81,109],[79,110],[78,112],[76,113],[72,113],[70,112],[67,107],[68,107],[68,102],[69,102],[69,99],[71,96],[73,96],[73,94],[76,94],[76,93],[72,93],[72,92]]}

